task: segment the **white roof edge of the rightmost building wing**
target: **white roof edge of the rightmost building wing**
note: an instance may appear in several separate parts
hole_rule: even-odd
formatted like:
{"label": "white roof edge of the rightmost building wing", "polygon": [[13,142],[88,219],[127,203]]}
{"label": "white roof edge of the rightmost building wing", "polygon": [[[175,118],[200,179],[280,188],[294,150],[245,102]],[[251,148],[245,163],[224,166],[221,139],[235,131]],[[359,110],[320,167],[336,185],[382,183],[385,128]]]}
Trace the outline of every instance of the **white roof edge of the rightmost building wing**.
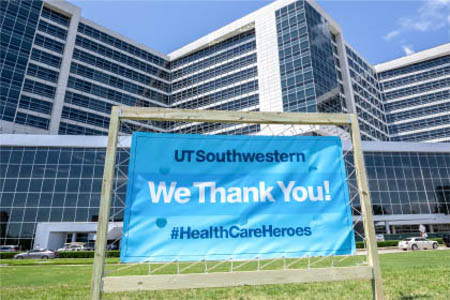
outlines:
{"label": "white roof edge of the rightmost building wing", "polygon": [[423,50],[408,56],[400,57],[382,64],[374,66],[377,73],[406,67],[408,65],[417,64],[422,61],[434,59],[437,57],[450,55],[450,43],[443,44],[431,49]]}

